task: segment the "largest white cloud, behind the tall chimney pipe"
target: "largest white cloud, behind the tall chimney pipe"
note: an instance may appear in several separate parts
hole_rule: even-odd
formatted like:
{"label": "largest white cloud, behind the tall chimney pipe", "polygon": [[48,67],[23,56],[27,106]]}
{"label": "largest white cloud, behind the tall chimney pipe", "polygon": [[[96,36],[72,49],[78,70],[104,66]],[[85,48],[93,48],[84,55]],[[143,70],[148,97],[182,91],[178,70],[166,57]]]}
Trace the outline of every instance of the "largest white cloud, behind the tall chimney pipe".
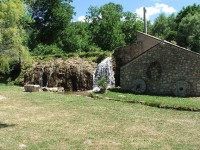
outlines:
{"label": "largest white cloud, behind the tall chimney pipe", "polygon": [[[160,3],[156,3],[154,6],[151,6],[151,7],[146,7],[146,10],[147,10],[147,14],[146,14],[147,19],[161,12],[167,13],[167,14],[176,12],[176,10],[173,7],[170,7],[166,4],[160,4]],[[139,17],[143,17],[143,7],[136,9],[135,13]]]}

